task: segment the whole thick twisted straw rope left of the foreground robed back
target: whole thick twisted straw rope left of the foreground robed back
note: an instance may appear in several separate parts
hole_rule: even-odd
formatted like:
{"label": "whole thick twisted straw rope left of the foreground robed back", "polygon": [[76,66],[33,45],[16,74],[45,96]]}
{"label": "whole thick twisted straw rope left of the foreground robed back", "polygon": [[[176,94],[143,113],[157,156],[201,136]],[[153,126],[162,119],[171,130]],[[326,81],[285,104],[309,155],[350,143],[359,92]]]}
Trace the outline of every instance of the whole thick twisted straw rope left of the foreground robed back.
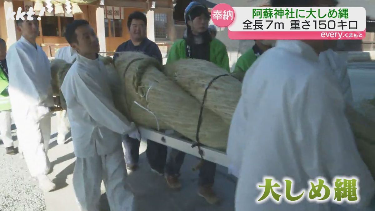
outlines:
{"label": "whole thick twisted straw rope left of the foreground robed back", "polygon": [[[240,81],[211,62],[179,60],[165,68],[145,54],[123,52],[113,65],[110,57],[99,59],[106,66],[115,107],[130,121],[155,130],[173,129],[196,140],[202,109],[199,142],[221,151],[226,150],[229,125],[241,93]],[[52,86],[66,102],[59,89],[72,64],[56,59],[51,62]],[[207,96],[202,100],[208,84]]]}

